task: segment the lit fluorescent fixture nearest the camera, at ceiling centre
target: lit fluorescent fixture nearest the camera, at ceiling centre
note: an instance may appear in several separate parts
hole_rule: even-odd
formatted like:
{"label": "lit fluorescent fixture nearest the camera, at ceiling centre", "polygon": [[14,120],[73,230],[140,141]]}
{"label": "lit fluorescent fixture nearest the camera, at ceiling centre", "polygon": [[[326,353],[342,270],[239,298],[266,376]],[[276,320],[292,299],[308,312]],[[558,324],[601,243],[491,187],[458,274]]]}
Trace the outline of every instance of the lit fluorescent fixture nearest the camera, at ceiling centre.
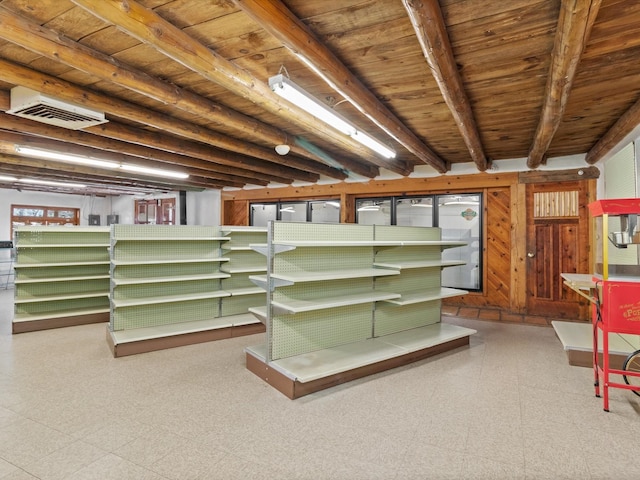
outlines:
{"label": "lit fluorescent fixture nearest the camera, at ceiling centre", "polygon": [[355,126],[342,118],[342,116],[334,112],[327,105],[318,101],[306,90],[292,82],[288,77],[282,74],[275,75],[269,78],[269,86],[271,87],[271,90],[285,100],[288,100],[294,105],[302,108],[318,120],[332,126],[339,132],[350,136],[365,147],[370,148],[385,158],[395,158],[396,152],[366,133],[359,131]]}

